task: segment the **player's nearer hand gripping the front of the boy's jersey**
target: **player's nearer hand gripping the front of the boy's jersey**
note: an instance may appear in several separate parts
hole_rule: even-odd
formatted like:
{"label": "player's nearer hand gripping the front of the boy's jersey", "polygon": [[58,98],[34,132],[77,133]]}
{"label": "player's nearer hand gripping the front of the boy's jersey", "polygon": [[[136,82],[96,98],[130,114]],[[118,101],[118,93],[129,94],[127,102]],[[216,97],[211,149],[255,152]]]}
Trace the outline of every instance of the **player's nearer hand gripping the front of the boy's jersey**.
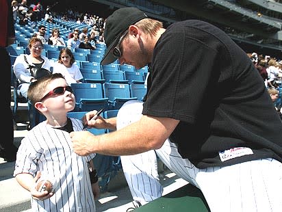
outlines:
{"label": "player's nearer hand gripping the front of the boy's jersey", "polygon": [[91,152],[90,148],[93,145],[92,139],[94,135],[88,131],[75,131],[70,133],[71,141],[73,142],[73,150],[77,155],[85,156]]}

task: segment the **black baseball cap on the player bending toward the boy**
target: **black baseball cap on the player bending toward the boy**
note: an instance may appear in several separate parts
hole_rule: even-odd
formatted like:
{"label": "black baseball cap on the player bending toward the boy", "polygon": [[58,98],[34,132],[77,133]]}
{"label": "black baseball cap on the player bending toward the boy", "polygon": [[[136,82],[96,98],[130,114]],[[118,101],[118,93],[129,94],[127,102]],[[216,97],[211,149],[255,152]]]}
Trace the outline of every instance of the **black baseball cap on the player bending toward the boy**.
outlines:
{"label": "black baseball cap on the player bending toward the boy", "polygon": [[144,18],[148,18],[148,16],[138,8],[120,8],[107,18],[104,31],[107,51],[101,61],[102,65],[111,64],[116,60],[116,57],[112,54],[112,49],[118,44],[120,36],[123,35],[130,25]]}

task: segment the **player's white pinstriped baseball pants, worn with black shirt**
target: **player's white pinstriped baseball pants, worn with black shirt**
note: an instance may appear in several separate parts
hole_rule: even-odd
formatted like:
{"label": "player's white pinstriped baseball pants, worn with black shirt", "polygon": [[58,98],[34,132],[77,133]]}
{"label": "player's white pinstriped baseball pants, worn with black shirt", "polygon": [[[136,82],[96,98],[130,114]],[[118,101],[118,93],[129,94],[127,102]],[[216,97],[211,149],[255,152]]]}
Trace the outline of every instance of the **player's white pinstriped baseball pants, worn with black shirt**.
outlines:
{"label": "player's white pinstriped baseball pants, worn with black shirt", "polygon": [[[141,115],[142,102],[125,103],[118,111],[117,129],[136,122]],[[183,159],[169,140],[158,150],[120,157],[133,200],[146,204],[162,196],[156,154],[177,176],[201,189],[212,212],[282,211],[279,161],[259,159],[222,168],[198,169]]]}

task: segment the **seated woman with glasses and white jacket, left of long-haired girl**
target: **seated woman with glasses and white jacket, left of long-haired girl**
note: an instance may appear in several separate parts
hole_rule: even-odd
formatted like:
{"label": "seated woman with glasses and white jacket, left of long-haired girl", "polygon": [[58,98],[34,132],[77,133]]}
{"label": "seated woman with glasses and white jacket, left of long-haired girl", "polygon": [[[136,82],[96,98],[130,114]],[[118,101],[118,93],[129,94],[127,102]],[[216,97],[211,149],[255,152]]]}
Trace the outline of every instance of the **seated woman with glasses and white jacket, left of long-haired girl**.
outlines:
{"label": "seated woman with glasses and white jacket, left of long-haired girl", "polygon": [[30,68],[44,68],[50,70],[51,62],[42,53],[42,41],[40,38],[30,38],[29,40],[29,55],[21,54],[16,57],[14,62],[14,74],[20,82],[18,85],[18,95],[27,98],[27,89],[31,82],[36,81],[31,75]]}

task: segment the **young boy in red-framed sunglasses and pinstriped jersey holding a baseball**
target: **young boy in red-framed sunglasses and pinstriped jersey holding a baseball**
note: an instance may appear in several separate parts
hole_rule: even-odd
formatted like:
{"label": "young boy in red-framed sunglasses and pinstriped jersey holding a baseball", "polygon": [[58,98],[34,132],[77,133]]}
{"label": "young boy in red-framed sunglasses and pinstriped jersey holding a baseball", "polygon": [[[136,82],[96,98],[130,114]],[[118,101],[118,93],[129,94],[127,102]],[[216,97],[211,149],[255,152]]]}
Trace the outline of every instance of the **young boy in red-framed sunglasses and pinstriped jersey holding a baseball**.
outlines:
{"label": "young boy in red-framed sunglasses and pinstriped jersey holding a baseball", "polygon": [[[95,211],[99,185],[97,175],[93,176],[97,173],[94,154],[75,154],[69,136],[71,131],[84,129],[81,120],[66,116],[75,108],[73,90],[56,73],[31,83],[27,96],[47,118],[23,138],[16,155],[14,176],[30,191],[32,211]],[[40,175],[55,179],[54,192],[36,190]]]}

